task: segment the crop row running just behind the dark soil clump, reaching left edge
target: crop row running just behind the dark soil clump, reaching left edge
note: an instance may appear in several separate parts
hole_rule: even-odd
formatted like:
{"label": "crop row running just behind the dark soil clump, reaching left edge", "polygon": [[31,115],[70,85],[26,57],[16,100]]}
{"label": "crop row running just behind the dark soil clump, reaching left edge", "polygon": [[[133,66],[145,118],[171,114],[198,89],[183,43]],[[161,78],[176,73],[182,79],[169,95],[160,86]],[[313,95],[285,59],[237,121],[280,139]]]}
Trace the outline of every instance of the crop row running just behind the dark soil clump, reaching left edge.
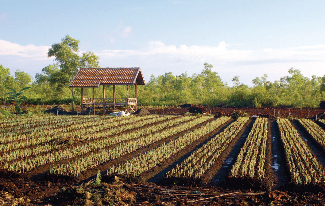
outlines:
{"label": "crop row running just behind the dark soil clump, reaching left edge", "polygon": [[[119,125],[122,124],[127,124],[127,123],[134,123],[136,121],[139,120],[145,120],[145,119],[149,119],[152,118],[153,116],[144,116],[144,117],[123,117],[123,120],[119,119],[119,121],[117,120],[117,118],[111,118],[108,120],[101,120],[100,123],[101,125],[99,126],[94,126],[91,127],[89,125],[92,125],[91,122],[86,122],[84,124],[79,123],[77,125],[72,125],[73,128],[79,128],[78,132],[65,132],[63,133],[63,131],[52,131],[52,134],[54,133],[54,135],[49,135],[48,133],[41,133],[41,136],[37,136],[36,138],[30,138],[30,139],[25,139],[24,141],[14,141],[14,142],[9,142],[6,144],[0,144],[0,151],[6,152],[8,150],[13,150],[13,149],[18,149],[18,148],[23,148],[23,147],[28,147],[28,146],[32,146],[32,145],[37,145],[40,143],[47,143],[53,139],[58,139],[58,138],[63,138],[63,137],[69,137],[69,138],[83,138],[83,136],[87,133],[96,133],[100,130],[103,129],[108,129],[108,128],[113,128],[113,127],[117,127]],[[68,127],[70,128],[70,127]],[[68,128],[62,128],[64,131],[66,131]],[[83,129],[82,129],[83,128]],[[69,134],[71,134],[71,136],[69,136]],[[78,134],[78,136],[77,136]]]}

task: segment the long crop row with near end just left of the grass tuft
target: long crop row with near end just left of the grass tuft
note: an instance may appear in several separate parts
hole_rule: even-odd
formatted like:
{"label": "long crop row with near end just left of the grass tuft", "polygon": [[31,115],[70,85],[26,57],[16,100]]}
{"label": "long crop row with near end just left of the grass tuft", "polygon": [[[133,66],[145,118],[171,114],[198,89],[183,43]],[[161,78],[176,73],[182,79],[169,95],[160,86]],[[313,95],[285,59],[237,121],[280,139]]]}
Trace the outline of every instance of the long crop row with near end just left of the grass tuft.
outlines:
{"label": "long crop row with near end just left of the grass tuft", "polygon": [[[186,117],[182,117],[182,119],[184,118]],[[70,161],[68,164],[54,166],[50,171],[51,173],[55,174],[78,176],[78,174],[80,174],[82,171],[93,168],[113,158],[117,158],[124,154],[133,152],[140,147],[147,146],[159,140],[163,140],[171,135],[186,131],[191,127],[194,127],[195,125],[198,125],[209,119],[211,119],[211,117],[195,118],[185,122],[184,124],[179,124],[175,127],[169,127],[165,130],[150,133],[149,135],[144,135],[140,138],[124,142],[117,147],[100,150],[97,153],[92,153],[75,161]]]}

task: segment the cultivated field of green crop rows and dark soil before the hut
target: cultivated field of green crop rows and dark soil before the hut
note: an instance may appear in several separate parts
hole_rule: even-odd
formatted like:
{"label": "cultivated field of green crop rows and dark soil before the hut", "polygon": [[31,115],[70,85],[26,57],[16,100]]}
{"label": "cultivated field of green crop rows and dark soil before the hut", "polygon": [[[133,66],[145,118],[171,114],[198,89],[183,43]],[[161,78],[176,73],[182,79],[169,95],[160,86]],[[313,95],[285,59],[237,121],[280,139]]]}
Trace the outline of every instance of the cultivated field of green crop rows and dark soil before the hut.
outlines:
{"label": "cultivated field of green crop rows and dark soil before the hut", "polygon": [[324,126],[195,115],[6,120],[0,190],[21,197],[20,205],[74,204],[81,193],[73,188],[101,175],[107,183],[122,178],[115,186],[134,195],[132,204],[324,205]]}

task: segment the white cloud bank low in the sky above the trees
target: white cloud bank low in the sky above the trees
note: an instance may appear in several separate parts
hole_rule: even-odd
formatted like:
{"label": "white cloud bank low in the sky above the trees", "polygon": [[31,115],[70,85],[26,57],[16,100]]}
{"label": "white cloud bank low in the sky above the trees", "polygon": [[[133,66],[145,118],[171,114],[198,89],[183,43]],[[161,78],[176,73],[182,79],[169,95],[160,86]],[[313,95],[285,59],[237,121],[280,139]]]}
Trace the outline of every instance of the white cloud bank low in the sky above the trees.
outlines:
{"label": "white cloud bank low in the sky above the trees", "polygon": [[[127,37],[132,28],[123,30]],[[9,67],[24,70],[32,76],[53,59],[47,58],[49,46],[22,46],[5,40],[0,40],[0,63]],[[100,58],[102,67],[141,67],[146,81],[150,75],[160,75],[165,72],[189,75],[200,73],[203,63],[214,65],[214,71],[231,84],[231,78],[240,76],[240,82],[252,85],[256,76],[268,74],[274,81],[287,75],[294,67],[308,76],[325,74],[325,45],[306,45],[293,48],[265,48],[262,50],[240,50],[240,45],[227,44],[222,41],[216,46],[204,45],[165,45],[161,41],[150,41],[135,50],[101,50],[94,51]]]}

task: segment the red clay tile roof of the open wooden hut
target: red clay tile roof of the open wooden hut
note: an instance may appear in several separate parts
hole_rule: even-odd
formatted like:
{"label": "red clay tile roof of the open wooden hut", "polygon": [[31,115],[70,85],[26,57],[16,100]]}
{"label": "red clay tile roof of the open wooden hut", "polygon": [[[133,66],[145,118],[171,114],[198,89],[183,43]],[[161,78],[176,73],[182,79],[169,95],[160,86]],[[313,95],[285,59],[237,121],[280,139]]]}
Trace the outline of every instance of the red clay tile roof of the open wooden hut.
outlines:
{"label": "red clay tile roof of the open wooden hut", "polygon": [[99,85],[146,85],[141,69],[81,68],[70,87],[99,87]]}

